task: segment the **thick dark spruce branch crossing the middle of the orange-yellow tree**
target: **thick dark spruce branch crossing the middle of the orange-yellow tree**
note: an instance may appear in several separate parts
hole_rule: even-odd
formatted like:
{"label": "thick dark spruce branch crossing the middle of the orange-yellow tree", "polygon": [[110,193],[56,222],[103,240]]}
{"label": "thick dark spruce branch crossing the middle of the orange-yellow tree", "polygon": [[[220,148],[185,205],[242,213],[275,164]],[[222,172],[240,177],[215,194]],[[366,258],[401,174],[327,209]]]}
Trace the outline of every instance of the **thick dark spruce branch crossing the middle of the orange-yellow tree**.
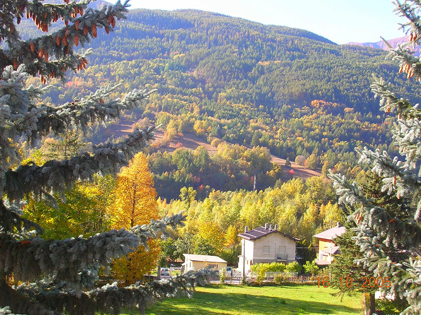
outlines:
{"label": "thick dark spruce branch crossing the middle of the orange-yellow tree", "polygon": [[111,257],[121,257],[137,248],[139,239],[124,229],[111,230],[88,239],[32,240],[0,239],[0,270],[21,280],[49,276],[81,289],[82,271],[107,268]]}

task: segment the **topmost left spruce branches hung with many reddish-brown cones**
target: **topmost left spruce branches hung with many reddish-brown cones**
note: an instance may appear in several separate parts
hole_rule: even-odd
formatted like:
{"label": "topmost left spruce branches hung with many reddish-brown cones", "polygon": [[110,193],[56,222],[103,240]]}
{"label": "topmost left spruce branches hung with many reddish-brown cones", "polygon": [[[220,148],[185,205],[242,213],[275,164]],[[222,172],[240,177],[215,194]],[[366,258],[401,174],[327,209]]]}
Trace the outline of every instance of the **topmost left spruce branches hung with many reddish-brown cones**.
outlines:
{"label": "topmost left spruce branches hung with many reddish-brown cones", "polygon": [[[124,19],[129,7],[127,1],[124,4],[119,1],[102,10],[88,9],[84,12],[90,2],[72,2],[58,6],[23,0],[19,4],[12,4],[19,8],[17,22],[26,10],[26,17],[32,18],[43,32],[48,32],[48,26],[59,18],[65,21],[65,26],[50,35],[19,41],[13,18],[10,23],[6,20],[3,27],[0,26],[0,40],[7,38],[9,49],[0,49],[0,69],[9,65],[17,69],[19,65],[24,64],[29,74],[41,75],[43,83],[53,77],[64,79],[68,69],[73,71],[86,69],[88,62],[85,56],[74,54],[74,46],[78,46],[79,43],[84,46],[90,42],[91,38],[97,37],[98,27],[104,28],[106,33],[113,31],[116,19]],[[12,10],[13,8],[8,5],[4,9]],[[80,14],[79,18],[77,18],[78,14]],[[72,23],[69,24],[69,21]],[[49,62],[52,56],[58,62]]]}

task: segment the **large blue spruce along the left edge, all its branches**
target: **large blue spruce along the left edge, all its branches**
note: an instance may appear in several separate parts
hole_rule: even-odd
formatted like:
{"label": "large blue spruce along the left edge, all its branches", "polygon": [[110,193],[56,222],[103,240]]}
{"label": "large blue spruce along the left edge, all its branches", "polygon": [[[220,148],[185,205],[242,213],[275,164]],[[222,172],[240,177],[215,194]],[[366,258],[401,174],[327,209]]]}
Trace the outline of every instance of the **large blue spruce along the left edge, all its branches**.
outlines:
{"label": "large blue spruce along the left edge, all its branches", "polygon": [[[118,2],[102,10],[88,8],[90,0],[64,0],[53,5],[40,0],[0,2],[0,312],[26,314],[119,313],[122,306],[144,309],[153,301],[203,283],[208,272],[146,284],[117,287],[116,283],[95,287],[98,270],[111,259],[134,251],[149,238],[165,234],[168,225],[183,224],[180,213],[130,230],[112,230],[88,239],[44,240],[42,228],[21,217],[25,196],[47,198],[63,193],[72,183],[91,179],[98,171],[116,173],[121,165],[142,149],[153,136],[153,128],[136,130],[118,143],[106,143],[67,159],[50,160],[41,166],[21,164],[19,140],[32,144],[49,134],[66,130],[86,131],[89,124],[118,119],[122,110],[137,106],[152,91],[133,90],[121,99],[110,99],[117,86],[57,106],[42,104],[45,88],[26,86],[29,76],[65,79],[67,70],[86,68],[89,50],[77,54],[74,47],[87,44],[103,30],[113,31],[125,17],[128,4]],[[17,24],[33,19],[40,37],[22,41]],[[61,21],[62,20],[62,21]],[[62,23],[57,32],[42,36],[51,25]],[[54,24],[57,25],[57,24]],[[85,148],[84,148],[85,149]],[[19,165],[19,166],[18,166]],[[31,230],[34,230],[30,232]],[[17,285],[19,283],[19,285]],[[15,284],[15,285],[13,285]]]}

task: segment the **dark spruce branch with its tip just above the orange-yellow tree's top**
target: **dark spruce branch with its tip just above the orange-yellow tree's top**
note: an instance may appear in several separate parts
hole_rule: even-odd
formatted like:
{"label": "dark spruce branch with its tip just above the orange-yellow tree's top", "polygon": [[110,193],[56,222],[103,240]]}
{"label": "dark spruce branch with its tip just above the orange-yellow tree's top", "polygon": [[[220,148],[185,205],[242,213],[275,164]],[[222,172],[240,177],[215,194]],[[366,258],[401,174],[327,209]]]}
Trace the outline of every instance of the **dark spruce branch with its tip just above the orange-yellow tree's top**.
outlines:
{"label": "dark spruce branch with its tip just above the orange-yellow tree's top", "polygon": [[99,171],[114,173],[120,166],[147,145],[153,138],[154,127],[136,130],[117,144],[93,146],[92,152],[82,152],[66,160],[50,160],[42,166],[19,165],[5,173],[5,184],[0,193],[11,201],[19,201],[25,194],[39,197],[45,191],[63,193],[77,180],[91,180]]}

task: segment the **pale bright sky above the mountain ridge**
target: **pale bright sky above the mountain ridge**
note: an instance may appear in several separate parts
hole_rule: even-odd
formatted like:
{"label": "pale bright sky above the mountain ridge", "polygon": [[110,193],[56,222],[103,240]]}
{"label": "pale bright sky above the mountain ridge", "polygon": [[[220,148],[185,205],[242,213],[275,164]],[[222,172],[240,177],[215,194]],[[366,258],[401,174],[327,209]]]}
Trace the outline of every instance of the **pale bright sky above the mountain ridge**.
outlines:
{"label": "pale bright sky above the mountain ridge", "polygon": [[401,37],[390,0],[131,0],[132,8],[199,9],[303,28],[344,44]]}

